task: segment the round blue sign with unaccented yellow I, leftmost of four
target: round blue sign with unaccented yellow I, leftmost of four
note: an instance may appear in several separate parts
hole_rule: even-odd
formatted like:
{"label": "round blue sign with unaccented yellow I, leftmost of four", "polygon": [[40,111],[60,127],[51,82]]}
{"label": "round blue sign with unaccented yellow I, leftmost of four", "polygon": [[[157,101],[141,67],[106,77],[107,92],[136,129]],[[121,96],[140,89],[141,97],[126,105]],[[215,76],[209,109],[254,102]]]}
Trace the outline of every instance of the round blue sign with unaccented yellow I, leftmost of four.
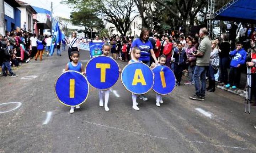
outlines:
{"label": "round blue sign with unaccented yellow I, leftmost of four", "polygon": [[76,71],[62,73],[55,83],[55,94],[66,106],[77,106],[89,95],[89,84],[84,75]]}

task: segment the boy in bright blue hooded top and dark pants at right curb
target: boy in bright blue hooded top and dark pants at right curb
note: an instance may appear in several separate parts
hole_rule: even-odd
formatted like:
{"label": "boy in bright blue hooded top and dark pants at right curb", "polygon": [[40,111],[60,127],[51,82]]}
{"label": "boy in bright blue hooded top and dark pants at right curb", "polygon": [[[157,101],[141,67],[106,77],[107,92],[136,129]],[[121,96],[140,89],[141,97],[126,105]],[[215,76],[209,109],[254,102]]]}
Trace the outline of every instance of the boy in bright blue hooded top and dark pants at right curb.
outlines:
{"label": "boy in bright blue hooded top and dark pants at right curb", "polygon": [[232,57],[230,62],[230,72],[229,72],[229,81],[225,86],[232,89],[239,87],[240,77],[241,77],[241,66],[245,64],[246,61],[246,51],[242,48],[241,42],[236,43],[236,49],[229,53],[229,56]]}

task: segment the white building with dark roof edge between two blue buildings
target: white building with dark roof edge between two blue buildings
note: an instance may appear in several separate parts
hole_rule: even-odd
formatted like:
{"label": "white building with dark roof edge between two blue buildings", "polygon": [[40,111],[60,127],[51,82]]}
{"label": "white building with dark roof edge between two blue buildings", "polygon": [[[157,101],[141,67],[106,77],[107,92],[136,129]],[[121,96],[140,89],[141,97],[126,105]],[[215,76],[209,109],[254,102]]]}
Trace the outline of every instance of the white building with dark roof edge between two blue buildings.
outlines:
{"label": "white building with dark roof edge between two blue buildings", "polygon": [[29,32],[33,31],[33,14],[36,14],[37,12],[34,10],[33,7],[31,7],[30,4],[27,4],[25,2],[22,2],[20,0],[16,0],[21,7],[18,7],[18,9],[21,11],[21,29],[24,28],[24,23],[26,22],[26,30]]}

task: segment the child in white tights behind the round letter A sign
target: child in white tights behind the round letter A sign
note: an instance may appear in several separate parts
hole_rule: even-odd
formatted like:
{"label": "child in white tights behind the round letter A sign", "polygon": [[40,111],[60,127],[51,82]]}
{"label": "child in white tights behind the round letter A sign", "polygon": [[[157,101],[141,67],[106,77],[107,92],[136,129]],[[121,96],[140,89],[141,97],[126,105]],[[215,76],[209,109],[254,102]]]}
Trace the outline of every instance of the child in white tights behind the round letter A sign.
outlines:
{"label": "child in white tights behind the round letter A sign", "polygon": [[[134,59],[130,60],[128,62],[128,64],[135,63],[135,62],[142,62],[142,61],[139,60],[139,58],[140,58],[140,49],[138,47],[133,47],[132,53],[133,53]],[[137,96],[138,95],[136,95],[136,94],[132,94],[132,101],[133,101],[132,108],[137,110],[137,111],[139,111],[139,107],[137,106],[139,104],[136,101],[137,100]]]}

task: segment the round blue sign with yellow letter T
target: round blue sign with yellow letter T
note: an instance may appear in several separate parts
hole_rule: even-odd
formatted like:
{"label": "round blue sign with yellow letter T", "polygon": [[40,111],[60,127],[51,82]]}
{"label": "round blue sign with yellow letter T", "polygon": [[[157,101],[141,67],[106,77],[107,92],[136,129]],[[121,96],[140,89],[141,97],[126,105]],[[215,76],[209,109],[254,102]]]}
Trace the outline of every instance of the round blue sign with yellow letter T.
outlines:
{"label": "round blue sign with yellow letter T", "polygon": [[96,89],[109,89],[119,78],[119,66],[111,57],[97,56],[87,63],[86,77]]}

